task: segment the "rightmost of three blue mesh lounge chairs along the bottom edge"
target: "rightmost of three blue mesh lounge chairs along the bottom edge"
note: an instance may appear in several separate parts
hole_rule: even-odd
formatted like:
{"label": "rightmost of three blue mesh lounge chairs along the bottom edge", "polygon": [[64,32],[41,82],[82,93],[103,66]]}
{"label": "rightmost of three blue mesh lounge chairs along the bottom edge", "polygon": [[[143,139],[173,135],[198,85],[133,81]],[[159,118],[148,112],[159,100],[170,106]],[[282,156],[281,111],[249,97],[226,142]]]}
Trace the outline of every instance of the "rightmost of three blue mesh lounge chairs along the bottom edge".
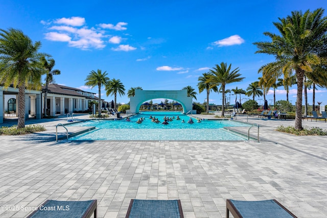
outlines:
{"label": "rightmost of three blue mesh lounge chairs along the bottom edge", "polygon": [[276,200],[236,201],[227,199],[226,218],[229,218],[229,211],[234,218],[297,218]]}

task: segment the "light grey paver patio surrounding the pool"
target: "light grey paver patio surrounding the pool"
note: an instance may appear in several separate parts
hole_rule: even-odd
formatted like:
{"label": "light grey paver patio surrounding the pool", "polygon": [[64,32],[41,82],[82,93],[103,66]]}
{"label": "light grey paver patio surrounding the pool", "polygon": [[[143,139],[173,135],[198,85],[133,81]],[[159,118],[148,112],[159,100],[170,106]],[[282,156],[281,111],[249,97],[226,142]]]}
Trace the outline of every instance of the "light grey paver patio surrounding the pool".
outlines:
{"label": "light grey paver patio surrounding the pool", "polygon": [[[0,217],[25,217],[31,211],[21,208],[47,199],[97,199],[98,217],[125,217],[133,198],[180,199],[185,217],[225,217],[226,199],[277,199],[298,217],[326,217],[327,137],[274,131],[294,120],[237,117],[247,119],[260,124],[260,143],[55,142],[64,117],[42,123],[45,132],[1,135],[0,205],[18,210],[2,207]],[[303,125],[327,129],[324,122]]]}

